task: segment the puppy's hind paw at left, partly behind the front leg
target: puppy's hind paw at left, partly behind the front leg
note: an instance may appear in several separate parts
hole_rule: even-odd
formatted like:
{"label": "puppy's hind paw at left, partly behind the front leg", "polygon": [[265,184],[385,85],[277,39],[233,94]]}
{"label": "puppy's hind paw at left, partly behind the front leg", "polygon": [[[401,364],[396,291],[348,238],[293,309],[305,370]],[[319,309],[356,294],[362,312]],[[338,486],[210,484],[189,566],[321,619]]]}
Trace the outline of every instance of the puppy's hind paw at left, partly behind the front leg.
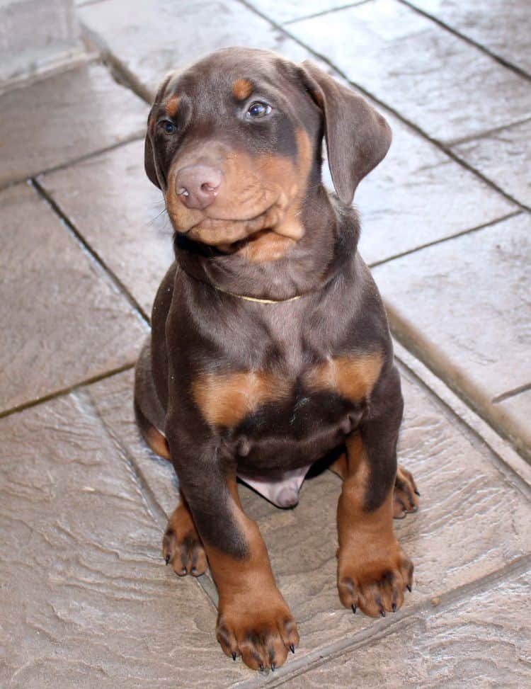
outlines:
{"label": "puppy's hind paw at left, partly behind the front leg", "polygon": [[162,539],[162,555],[178,576],[201,576],[207,571],[207,556],[188,508],[182,503],[169,518]]}

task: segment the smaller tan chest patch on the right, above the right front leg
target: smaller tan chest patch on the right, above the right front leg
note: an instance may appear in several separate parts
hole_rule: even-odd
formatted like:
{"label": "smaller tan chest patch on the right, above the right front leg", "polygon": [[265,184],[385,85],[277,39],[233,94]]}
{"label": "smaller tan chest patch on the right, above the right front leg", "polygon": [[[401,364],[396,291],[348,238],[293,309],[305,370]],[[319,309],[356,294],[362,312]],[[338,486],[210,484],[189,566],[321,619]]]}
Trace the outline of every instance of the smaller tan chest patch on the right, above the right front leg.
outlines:
{"label": "smaller tan chest patch on the right, above the right front leg", "polygon": [[308,384],[314,389],[333,390],[352,402],[361,402],[375,387],[382,363],[380,353],[331,358],[309,372]]}

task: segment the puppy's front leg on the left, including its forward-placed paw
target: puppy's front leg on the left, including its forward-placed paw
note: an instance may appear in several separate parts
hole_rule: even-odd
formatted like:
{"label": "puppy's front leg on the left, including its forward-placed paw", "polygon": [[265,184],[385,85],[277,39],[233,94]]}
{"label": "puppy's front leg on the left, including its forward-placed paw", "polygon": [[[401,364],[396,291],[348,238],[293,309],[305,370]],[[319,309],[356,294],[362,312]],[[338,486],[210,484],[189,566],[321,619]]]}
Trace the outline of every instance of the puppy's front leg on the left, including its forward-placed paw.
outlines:
{"label": "puppy's front leg on the left, including its forward-placed paw", "polygon": [[[258,526],[244,513],[232,462],[217,448],[183,462],[172,447],[181,489],[219,592],[217,640],[228,656],[254,670],[280,667],[299,643],[295,620],[278,590]],[[182,448],[181,448],[182,450]]]}

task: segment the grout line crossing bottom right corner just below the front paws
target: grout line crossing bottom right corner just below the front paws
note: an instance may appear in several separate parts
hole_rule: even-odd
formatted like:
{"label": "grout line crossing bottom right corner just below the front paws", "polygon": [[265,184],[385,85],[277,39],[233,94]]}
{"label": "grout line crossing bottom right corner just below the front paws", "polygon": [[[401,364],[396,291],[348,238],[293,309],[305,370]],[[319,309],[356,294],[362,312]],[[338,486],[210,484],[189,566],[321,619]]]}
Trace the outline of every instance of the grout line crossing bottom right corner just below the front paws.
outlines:
{"label": "grout line crossing bottom right corner just below the front paws", "polygon": [[[273,678],[269,673],[268,679],[270,679],[270,681],[268,681],[267,684],[270,687],[285,685],[286,683],[292,681],[295,677],[302,676],[307,673],[307,671],[310,671],[319,665],[343,656],[346,651],[353,651],[355,649],[365,647],[369,643],[379,642],[380,639],[384,639],[385,637],[389,637],[391,634],[399,632],[401,628],[404,627],[404,625],[406,625],[408,622],[410,625],[414,625],[416,622],[418,622],[418,615],[425,613],[431,617],[432,615],[444,613],[447,610],[450,610],[452,605],[455,603],[463,603],[464,600],[466,600],[471,594],[487,591],[489,588],[501,583],[501,581],[511,579],[518,574],[523,574],[525,571],[527,571],[527,569],[529,569],[530,566],[531,556],[523,555],[522,557],[513,560],[513,562],[510,562],[509,564],[491,572],[490,574],[486,574],[479,579],[475,579],[474,581],[465,583],[462,586],[458,586],[457,588],[452,589],[452,591],[447,591],[446,593],[440,594],[440,596],[438,596],[438,598],[440,598],[440,603],[435,607],[433,603],[431,603],[431,599],[428,598],[422,603],[416,605],[415,608],[412,608],[409,613],[396,613],[394,619],[389,618],[390,620],[393,620],[392,622],[390,621],[389,623],[384,624],[383,627],[379,627],[378,630],[374,630],[374,625],[371,625],[370,627],[366,627],[365,630],[358,632],[358,634],[355,634],[354,637],[350,637],[350,639],[343,639],[338,642],[333,642],[333,644],[330,644],[329,646],[321,647],[321,649],[316,649],[315,651],[310,652],[307,654],[307,656],[304,656],[304,658],[300,659],[298,663],[296,660],[291,661],[287,665],[282,666],[282,668],[279,669],[278,674],[275,672],[275,676],[273,676]],[[292,668],[292,672],[288,671],[287,668]],[[248,681],[244,683],[236,683],[232,686],[234,688],[237,687],[238,689],[253,689],[256,686],[263,684],[263,681],[259,684],[257,684],[256,681]]]}

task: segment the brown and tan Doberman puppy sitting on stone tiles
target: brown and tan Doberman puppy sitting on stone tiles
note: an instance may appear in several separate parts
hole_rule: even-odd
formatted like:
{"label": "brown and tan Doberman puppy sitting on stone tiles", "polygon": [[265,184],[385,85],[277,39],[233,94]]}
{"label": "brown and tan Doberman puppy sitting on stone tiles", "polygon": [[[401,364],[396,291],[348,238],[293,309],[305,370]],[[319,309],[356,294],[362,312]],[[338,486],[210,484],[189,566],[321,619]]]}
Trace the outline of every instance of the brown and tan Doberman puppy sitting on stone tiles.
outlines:
{"label": "brown and tan Doberman puppy sitting on stone tiles", "polygon": [[[321,182],[323,138],[336,194]],[[411,590],[392,525],[417,506],[396,467],[399,373],[351,207],[390,143],[363,98],[265,50],[219,50],[170,74],[149,114],[145,168],[176,261],[137,363],[137,421],[180,484],[166,562],[193,576],[208,562],[217,639],[253,669],[282,665],[299,636],[236,476],[292,506],[328,456],[343,479],[341,603],[376,617]]]}

